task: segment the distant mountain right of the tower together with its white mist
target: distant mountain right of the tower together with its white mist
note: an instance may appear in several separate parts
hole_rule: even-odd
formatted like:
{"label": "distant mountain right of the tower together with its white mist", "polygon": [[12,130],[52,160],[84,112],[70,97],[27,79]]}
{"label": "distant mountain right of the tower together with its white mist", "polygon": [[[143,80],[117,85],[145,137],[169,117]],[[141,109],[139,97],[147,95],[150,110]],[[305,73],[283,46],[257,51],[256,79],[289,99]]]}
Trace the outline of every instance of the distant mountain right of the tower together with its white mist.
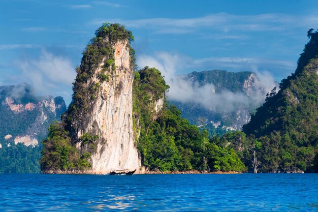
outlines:
{"label": "distant mountain right of the tower together with its white mist", "polygon": [[167,98],[181,110],[182,117],[195,125],[200,125],[199,117],[205,117],[214,133],[214,128],[240,130],[248,122],[250,112],[262,105],[266,94],[278,85],[269,72],[257,70],[178,75],[187,58],[165,52],[158,53],[156,58],[141,56],[138,62],[140,66],[149,64],[162,71],[170,85]]}

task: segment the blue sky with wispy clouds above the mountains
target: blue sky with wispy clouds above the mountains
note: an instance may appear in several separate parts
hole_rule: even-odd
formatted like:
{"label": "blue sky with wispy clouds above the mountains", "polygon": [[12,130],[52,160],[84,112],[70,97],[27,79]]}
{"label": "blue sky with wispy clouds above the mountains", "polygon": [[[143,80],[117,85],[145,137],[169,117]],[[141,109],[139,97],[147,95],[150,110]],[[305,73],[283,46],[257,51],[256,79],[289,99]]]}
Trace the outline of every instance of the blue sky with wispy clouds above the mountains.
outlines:
{"label": "blue sky with wispy clouds above the mountains", "polygon": [[[166,74],[222,69],[294,72],[318,25],[316,1],[0,0],[0,85],[27,82],[71,101],[75,67],[94,31],[133,31],[139,66]],[[148,63],[148,64],[147,64]],[[167,73],[169,72],[169,73]]]}

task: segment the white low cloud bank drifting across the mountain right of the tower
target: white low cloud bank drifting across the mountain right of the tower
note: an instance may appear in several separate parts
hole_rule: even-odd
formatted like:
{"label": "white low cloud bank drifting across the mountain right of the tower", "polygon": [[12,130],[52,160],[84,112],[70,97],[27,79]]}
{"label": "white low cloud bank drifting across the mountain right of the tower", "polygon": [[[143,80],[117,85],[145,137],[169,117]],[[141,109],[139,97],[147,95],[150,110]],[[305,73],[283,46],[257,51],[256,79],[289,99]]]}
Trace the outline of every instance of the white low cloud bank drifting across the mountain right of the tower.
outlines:
{"label": "white low cloud bank drifting across the mountain right of the tower", "polygon": [[[252,92],[233,93],[229,90],[221,90],[215,93],[213,84],[200,86],[182,75],[177,75],[179,70],[186,68],[185,66],[195,67],[196,60],[192,58],[160,52],[155,57],[139,56],[137,62],[140,67],[155,67],[162,72],[166,82],[170,85],[167,94],[169,100],[197,103],[206,109],[219,112],[234,112],[238,108],[257,107],[265,100],[266,93],[276,86],[270,72],[259,72],[255,67],[250,67],[249,70],[255,72],[258,76],[257,85]],[[184,64],[187,65],[184,66]],[[211,66],[209,70],[212,69],[215,69],[215,67]]]}

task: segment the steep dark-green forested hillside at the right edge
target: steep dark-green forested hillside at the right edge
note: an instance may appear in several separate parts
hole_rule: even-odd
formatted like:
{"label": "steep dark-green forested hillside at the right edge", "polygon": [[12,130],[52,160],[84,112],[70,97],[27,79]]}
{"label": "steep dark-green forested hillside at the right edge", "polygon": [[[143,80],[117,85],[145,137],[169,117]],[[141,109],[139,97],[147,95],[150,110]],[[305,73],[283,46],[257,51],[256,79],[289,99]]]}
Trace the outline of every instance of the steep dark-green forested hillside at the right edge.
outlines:
{"label": "steep dark-green forested hillside at the right edge", "polygon": [[261,172],[317,171],[318,32],[308,31],[308,38],[295,74],[283,79],[278,93],[273,89],[243,126],[247,136],[240,132],[241,139],[232,134],[222,138],[249,169],[247,146],[251,145],[256,148]]}

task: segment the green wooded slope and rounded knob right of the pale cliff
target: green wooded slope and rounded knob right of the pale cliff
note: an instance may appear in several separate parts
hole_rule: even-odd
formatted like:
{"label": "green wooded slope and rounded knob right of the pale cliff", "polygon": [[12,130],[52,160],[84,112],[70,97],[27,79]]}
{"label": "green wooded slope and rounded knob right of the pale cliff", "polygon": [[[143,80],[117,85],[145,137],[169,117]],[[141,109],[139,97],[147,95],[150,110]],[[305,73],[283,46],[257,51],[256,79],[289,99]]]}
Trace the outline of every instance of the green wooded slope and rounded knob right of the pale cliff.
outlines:
{"label": "green wooded slope and rounded knob right of the pale cliff", "polygon": [[233,150],[213,145],[208,138],[204,147],[200,130],[181,118],[181,112],[166,100],[161,111],[154,111],[154,102],[169,88],[158,70],[145,67],[135,72],[133,86],[134,129],[135,135],[140,132],[137,148],[144,166],[160,171],[246,170]]}

